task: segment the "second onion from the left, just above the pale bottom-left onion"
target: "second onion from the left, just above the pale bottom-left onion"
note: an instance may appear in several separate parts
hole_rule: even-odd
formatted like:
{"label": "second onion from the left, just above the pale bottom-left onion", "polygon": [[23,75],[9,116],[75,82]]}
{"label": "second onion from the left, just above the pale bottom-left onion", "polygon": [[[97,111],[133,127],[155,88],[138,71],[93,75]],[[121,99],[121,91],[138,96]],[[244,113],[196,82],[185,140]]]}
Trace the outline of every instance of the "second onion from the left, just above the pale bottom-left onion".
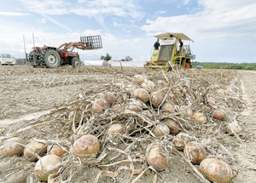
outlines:
{"label": "second onion from the left, just above the pale bottom-left onion", "polygon": [[24,157],[31,162],[38,160],[37,157],[33,155],[33,153],[38,154],[39,157],[44,157],[47,152],[47,145],[43,142],[35,142],[32,141],[28,145],[26,145],[24,149]]}

